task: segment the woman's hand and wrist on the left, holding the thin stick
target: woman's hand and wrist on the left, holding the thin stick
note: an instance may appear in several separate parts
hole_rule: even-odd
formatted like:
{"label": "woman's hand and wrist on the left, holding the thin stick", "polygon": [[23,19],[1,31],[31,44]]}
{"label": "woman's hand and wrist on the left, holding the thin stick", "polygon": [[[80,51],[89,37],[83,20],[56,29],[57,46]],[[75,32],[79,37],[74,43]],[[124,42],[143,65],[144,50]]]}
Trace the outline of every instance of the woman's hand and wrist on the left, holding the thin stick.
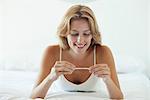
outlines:
{"label": "woman's hand and wrist on the left, holding the thin stick", "polygon": [[62,74],[72,74],[72,72],[75,70],[75,67],[76,66],[74,64],[67,61],[56,61],[51,69],[49,78],[55,81]]}

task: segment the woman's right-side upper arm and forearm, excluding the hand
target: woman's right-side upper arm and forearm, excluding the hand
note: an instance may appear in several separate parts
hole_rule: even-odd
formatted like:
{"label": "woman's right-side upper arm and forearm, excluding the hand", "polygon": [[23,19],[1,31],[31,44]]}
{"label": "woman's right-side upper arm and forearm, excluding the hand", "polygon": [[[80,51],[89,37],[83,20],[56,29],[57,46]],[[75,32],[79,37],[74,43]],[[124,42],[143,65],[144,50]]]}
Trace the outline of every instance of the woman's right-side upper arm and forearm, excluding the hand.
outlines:
{"label": "woman's right-side upper arm and forearm, excluding the hand", "polygon": [[103,46],[102,48],[103,48],[103,50],[102,50],[103,55],[105,55],[103,57],[105,59],[106,64],[108,65],[108,67],[110,69],[110,77],[104,78],[104,82],[107,86],[110,98],[111,99],[122,99],[123,94],[120,89],[117,72],[116,72],[116,68],[115,68],[115,63],[114,63],[114,58],[112,56],[111,50],[106,46]]}

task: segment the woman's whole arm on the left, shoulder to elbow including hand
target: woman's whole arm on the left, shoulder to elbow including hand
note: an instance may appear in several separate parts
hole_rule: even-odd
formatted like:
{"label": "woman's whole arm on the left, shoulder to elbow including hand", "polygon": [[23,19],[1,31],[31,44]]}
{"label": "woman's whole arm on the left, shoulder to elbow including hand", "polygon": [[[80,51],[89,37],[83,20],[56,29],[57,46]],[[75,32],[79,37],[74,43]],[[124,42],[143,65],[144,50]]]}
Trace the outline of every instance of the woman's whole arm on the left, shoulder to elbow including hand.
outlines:
{"label": "woman's whole arm on the left, shoulder to elbow including hand", "polygon": [[33,88],[31,98],[44,99],[51,84],[57,80],[60,75],[72,74],[75,70],[75,65],[67,61],[58,61],[58,58],[59,47],[48,47],[44,55],[36,85]]}

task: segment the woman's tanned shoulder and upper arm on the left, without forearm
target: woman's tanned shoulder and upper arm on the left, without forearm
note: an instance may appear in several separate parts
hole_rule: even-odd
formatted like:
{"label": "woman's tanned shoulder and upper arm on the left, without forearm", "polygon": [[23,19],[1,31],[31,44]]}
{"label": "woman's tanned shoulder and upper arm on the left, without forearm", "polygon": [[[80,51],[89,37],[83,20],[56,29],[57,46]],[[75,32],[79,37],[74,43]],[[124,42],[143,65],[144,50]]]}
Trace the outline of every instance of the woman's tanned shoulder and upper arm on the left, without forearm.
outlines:
{"label": "woman's tanned shoulder and upper arm on the left, without forearm", "polygon": [[35,87],[39,85],[50,73],[51,68],[55,64],[56,60],[58,60],[58,55],[59,45],[51,45],[46,47]]}

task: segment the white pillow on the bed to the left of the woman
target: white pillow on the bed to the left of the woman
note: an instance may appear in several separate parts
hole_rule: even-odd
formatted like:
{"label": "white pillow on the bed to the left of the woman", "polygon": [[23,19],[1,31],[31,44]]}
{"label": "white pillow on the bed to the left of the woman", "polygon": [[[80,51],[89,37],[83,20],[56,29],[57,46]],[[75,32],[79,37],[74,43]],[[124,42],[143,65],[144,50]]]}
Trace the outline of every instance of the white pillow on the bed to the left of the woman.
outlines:
{"label": "white pillow on the bed to the left of the woman", "polygon": [[0,62],[0,70],[38,71],[39,61],[26,59],[25,57],[12,57]]}

